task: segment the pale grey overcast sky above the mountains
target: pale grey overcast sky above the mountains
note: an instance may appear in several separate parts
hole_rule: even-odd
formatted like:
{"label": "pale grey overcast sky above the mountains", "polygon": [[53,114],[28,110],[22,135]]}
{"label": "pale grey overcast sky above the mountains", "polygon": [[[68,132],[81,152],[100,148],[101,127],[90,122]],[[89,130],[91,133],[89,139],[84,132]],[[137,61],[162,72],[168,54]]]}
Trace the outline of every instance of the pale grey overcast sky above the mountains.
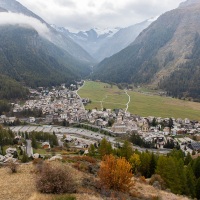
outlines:
{"label": "pale grey overcast sky above the mountains", "polygon": [[50,24],[72,31],[127,27],[185,0],[18,0]]}

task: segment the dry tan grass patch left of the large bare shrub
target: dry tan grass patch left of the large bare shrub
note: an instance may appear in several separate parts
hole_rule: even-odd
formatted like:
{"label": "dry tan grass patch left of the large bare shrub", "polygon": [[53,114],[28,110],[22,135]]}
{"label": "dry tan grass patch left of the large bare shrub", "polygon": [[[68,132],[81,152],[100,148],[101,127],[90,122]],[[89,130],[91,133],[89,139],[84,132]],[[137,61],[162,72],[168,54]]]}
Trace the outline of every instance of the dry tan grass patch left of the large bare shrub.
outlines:
{"label": "dry tan grass patch left of the large bare shrub", "polygon": [[[81,180],[82,174],[73,174]],[[0,168],[0,199],[2,200],[52,200],[56,195],[41,194],[35,187],[35,168],[32,164],[22,164],[18,172],[12,174],[7,167]],[[78,183],[80,184],[80,183]],[[76,195],[74,195],[76,196]],[[86,199],[85,199],[86,200]]]}

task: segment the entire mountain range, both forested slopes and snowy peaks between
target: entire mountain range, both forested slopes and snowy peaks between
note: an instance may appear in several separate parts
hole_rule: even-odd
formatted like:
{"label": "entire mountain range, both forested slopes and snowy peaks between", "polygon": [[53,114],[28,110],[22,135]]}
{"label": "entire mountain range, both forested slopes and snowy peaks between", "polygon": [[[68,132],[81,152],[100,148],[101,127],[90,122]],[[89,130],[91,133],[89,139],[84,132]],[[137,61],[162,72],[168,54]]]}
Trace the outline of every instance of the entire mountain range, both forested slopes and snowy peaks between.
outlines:
{"label": "entire mountain range, both forested slopes and snowy peaks between", "polygon": [[50,86],[91,74],[94,80],[145,84],[199,101],[199,10],[199,0],[187,0],[127,28],[73,33],[15,0],[0,0],[1,84]]}

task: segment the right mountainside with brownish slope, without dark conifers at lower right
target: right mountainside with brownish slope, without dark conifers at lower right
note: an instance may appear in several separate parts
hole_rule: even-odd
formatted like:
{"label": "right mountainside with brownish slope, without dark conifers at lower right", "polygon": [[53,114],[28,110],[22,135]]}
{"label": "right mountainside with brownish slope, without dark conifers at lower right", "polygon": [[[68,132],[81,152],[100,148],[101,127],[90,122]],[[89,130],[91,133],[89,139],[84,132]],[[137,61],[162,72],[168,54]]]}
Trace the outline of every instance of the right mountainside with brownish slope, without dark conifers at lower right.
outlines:
{"label": "right mountainside with brownish slope, without dark conifers at lower right", "polygon": [[[154,87],[162,82],[162,88],[170,93],[166,78],[171,75],[179,80],[177,70],[184,70],[182,66],[186,62],[196,62],[193,53],[198,54],[195,43],[200,33],[199,9],[198,2],[161,15],[131,45],[97,65],[93,78],[116,83],[151,84]],[[192,72],[198,74],[197,65]],[[199,83],[196,83],[193,74],[187,73],[187,87],[180,92],[177,87],[174,96],[199,98]],[[171,84],[173,86],[176,85]],[[191,88],[195,88],[192,93],[189,92]]]}

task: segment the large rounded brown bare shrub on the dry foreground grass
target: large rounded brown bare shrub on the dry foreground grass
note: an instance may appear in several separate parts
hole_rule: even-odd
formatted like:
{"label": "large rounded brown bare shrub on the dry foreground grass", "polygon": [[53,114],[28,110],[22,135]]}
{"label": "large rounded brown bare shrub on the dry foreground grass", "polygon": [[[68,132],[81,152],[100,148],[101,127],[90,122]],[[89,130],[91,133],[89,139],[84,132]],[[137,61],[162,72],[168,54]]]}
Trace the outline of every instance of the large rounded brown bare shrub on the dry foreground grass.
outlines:
{"label": "large rounded brown bare shrub on the dry foreground grass", "polygon": [[44,163],[36,178],[36,188],[42,193],[74,193],[76,183],[71,168],[60,162]]}

